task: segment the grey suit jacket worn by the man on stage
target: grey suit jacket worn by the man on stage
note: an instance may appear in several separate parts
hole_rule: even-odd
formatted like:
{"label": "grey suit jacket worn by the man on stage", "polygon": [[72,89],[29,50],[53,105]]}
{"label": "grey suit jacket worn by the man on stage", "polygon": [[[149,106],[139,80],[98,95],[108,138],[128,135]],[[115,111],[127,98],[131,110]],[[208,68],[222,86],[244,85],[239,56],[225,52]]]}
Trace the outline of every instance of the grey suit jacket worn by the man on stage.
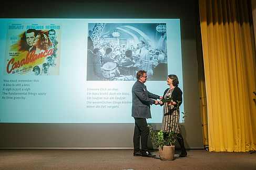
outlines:
{"label": "grey suit jacket worn by the man on stage", "polygon": [[132,107],[131,116],[135,118],[151,118],[150,105],[160,96],[148,92],[146,86],[140,81],[132,86]]}

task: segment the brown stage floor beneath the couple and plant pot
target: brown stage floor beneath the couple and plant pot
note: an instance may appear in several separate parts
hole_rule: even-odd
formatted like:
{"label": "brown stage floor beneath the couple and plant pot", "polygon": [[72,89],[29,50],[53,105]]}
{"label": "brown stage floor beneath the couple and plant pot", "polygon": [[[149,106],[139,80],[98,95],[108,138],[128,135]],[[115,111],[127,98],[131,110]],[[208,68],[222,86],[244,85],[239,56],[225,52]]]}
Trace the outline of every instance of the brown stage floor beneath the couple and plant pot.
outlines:
{"label": "brown stage floor beneath the couple and plant pot", "polygon": [[256,169],[256,153],[189,150],[161,161],[133,156],[132,150],[0,150],[0,169]]}

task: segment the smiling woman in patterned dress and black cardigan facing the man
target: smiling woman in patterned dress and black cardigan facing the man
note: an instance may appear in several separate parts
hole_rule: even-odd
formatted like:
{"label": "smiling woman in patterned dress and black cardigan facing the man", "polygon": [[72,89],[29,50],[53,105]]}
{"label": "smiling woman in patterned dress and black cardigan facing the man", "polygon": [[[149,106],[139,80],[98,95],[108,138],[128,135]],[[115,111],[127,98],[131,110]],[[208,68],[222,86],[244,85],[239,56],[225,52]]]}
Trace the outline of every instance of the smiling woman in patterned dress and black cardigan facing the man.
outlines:
{"label": "smiling woman in patterned dress and black cardigan facing the man", "polygon": [[[172,100],[167,103],[162,103],[162,101],[160,101],[159,103],[160,105],[163,105],[163,118],[162,118],[161,130],[168,131],[168,132],[174,131],[175,133],[177,133],[177,140],[181,148],[181,153],[179,157],[185,157],[187,156],[187,151],[185,149],[184,141],[179,128],[179,119],[180,119],[179,106],[182,103],[182,91],[178,87],[178,84],[179,84],[179,80],[176,75],[174,74],[168,75],[167,85],[169,85],[170,88],[167,88],[165,90],[165,93],[163,93],[163,98],[167,99],[172,97]],[[169,126],[169,124],[171,126]]]}

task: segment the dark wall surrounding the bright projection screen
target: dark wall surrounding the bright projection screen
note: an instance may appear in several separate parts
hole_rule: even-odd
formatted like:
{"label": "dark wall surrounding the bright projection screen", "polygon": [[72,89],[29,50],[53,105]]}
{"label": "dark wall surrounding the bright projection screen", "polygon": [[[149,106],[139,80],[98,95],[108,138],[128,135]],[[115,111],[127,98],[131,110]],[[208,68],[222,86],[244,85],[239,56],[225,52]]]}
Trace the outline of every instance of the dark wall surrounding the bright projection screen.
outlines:
{"label": "dark wall surrounding the bright projection screen", "polygon": [[[196,1],[24,1],[1,18],[180,18],[187,148],[203,148],[196,51]],[[160,124],[153,124],[160,128]],[[133,123],[0,123],[0,148],[132,149]]]}

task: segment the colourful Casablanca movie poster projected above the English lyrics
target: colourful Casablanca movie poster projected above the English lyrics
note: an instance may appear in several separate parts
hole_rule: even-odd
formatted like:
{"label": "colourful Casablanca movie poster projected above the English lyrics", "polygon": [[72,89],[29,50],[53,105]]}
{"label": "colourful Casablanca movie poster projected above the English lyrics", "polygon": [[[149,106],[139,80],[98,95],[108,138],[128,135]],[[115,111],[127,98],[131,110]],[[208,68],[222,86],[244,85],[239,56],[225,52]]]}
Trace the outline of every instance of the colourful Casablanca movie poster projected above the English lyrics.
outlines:
{"label": "colourful Casablanca movie poster projected above the English lyrics", "polygon": [[59,75],[61,24],[9,23],[3,75]]}

